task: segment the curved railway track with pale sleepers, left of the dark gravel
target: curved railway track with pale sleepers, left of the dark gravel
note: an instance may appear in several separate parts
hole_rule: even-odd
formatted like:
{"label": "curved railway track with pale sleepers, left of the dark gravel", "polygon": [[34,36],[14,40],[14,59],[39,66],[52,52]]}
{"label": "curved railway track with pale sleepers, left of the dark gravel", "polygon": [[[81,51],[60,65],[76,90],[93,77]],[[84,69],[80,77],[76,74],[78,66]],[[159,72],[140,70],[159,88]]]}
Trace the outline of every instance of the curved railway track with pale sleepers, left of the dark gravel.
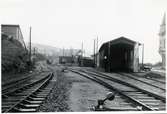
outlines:
{"label": "curved railway track with pale sleepers, left of the dark gravel", "polygon": [[35,112],[52,89],[53,73],[2,92],[2,113]]}

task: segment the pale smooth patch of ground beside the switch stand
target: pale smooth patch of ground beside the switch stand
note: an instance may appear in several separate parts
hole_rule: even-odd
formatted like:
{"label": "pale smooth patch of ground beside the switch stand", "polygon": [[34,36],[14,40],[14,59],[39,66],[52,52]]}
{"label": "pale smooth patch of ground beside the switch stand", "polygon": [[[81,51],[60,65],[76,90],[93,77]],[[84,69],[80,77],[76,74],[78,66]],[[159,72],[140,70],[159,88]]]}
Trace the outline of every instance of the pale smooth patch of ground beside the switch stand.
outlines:
{"label": "pale smooth patch of ground beside the switch stand", "polygon": [[68,72],[65,73],[65,75],[72,82],[68,101],[71,111],[92,111],[91,108],[97,105],[97,100],[104,99],[109,92],[109,90],[103,86],[78,74]]}

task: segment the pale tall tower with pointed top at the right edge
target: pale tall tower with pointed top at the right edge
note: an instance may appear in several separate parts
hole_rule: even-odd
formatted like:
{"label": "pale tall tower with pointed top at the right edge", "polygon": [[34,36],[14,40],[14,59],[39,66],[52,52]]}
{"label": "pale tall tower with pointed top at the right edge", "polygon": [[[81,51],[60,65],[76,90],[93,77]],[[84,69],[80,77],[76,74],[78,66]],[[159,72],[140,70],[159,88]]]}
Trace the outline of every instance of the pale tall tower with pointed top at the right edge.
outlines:
{"label": "pale tall tower with pointed top at the right edge", "polygon": [[166,13],[164,14],[162,23],[160,25],[159,31],[159,54],[162,57],[162,68],[166,68],[166,49],[165,49],[165,40],[166,40]]}

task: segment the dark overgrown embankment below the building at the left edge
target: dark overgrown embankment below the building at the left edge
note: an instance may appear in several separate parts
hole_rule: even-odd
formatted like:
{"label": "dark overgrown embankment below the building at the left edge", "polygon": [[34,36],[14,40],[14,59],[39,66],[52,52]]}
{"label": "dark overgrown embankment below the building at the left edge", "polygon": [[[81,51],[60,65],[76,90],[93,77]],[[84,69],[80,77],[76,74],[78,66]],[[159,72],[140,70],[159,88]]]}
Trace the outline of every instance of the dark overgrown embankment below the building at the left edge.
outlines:
{"label": "dark overgrown embankment below the building at the left edge", "polygon": [[20,71],[25,69],[27,61],[27,52],[22,44],[2,35],[2,72]]}

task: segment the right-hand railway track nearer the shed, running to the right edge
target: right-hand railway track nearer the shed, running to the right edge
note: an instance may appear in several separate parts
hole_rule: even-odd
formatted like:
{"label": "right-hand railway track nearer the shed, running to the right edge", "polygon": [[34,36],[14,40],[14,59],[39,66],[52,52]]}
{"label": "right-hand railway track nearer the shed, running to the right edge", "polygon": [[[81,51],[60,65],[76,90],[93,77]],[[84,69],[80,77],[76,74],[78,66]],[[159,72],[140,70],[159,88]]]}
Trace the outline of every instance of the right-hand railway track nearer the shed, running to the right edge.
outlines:
{"label": "right-hand railway track nearer the shed, running to the right edge", "polygon": [[[93,70],[93,69],[87,69],[87,71],[90,71],[90,72],[95,72],[99,75],[104,75],[106,77],[109,77],[113,80],[116,80],[120,83],[124,83],[125,85],[129,85],[131,87],[134,87],[134,88],[137,88],[137,89],[141,89],[142,91],[145,91],[147,93],[150,93],[152,94],[153,96],[156,96],[160,99],[163,99],[163,101],[165,102],[166,101],[166,90],[165,90],[165,85],[162,84],[162,88],[161,86],[153,86],[153,84],[150,84],[146,81],[146,79],[144,79],[144,81],[142,80],[137,80],[137,79],[134,79],[135,77],[133,76],[125,76],[125,75],[121,75],[119,73],[112,73],[112,74],[108,74],[108,73],[102,73],[102,72],[99,72],[99,71],[96,71],[96,70]],[[149,80],[150,81],[150,80]],[[158,83],[158,82],[157,82]],[[159,83],[161,84],[161,83]],[[147,87],[147,89],[145,89],[145,87]],[[148,89],[149,88],[149,89]],[[151,91],[150,91],[151,90]],[[159,94],[157,94],[159,93]]]}

